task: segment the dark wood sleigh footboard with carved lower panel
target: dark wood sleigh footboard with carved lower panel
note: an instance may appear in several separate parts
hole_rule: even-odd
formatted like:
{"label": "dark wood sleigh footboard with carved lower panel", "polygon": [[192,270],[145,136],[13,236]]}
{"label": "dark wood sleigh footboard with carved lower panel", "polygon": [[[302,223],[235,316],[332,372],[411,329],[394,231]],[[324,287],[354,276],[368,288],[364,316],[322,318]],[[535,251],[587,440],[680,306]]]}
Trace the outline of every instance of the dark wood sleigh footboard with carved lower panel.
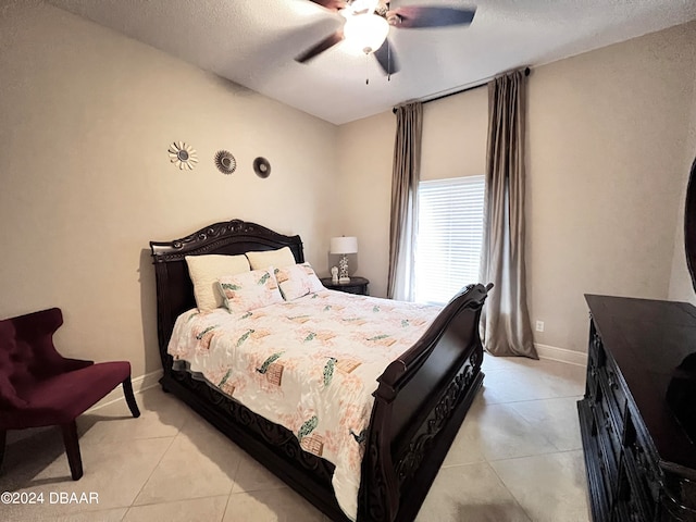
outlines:
{"label": "dark wood sleigh footboard with carved lower panel", "polygon": [[359,520],[411,521],[483,382],[481,309],[492,285],[459,293],[378,378]]}

